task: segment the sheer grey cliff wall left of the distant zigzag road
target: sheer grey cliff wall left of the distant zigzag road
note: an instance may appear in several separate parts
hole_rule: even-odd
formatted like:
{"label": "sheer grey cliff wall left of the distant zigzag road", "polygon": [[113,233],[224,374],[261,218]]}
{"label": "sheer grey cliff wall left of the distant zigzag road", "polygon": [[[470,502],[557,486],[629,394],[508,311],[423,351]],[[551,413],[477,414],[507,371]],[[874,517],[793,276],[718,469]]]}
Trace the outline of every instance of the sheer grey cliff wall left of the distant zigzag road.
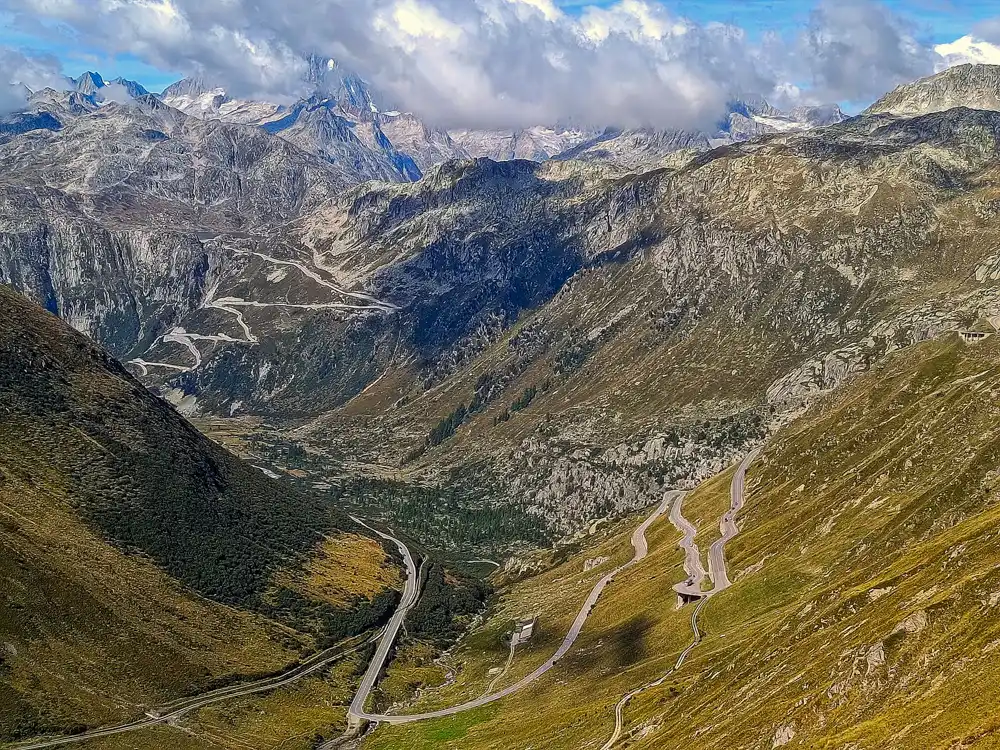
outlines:
{"label": "sheer grey cliff wall left of the distant zigzag road", "polygon": [[56,190],[0,185],[0,205],[0,283],[121,357],[200,306],[221,264],[194,234],[110,228]]}

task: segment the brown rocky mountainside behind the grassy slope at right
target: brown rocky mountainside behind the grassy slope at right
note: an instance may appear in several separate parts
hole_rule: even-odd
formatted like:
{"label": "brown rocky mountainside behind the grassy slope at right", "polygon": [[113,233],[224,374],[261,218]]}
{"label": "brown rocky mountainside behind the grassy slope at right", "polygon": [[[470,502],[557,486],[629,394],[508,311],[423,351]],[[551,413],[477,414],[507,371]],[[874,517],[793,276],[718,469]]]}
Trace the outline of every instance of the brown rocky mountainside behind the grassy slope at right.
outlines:
{"label": "brown rocky mountainside behind the grassy slope at right", "polygon": [[[501,319],[443,339],[419,388],[389,376],[356,408],[385,404],[379,434],[394,437],[383,448],[406,455],[426,441],[416,461],[428,469],[481,460],[482,447],[495,446],[501,477],[517,478],[494,480],[500,494],[522,498],[561,531],[643,504],[658,486],[652,478],[701,476],[761,433],[732,431],[711,449],[703,439],[659,458],[633,449],[637,440],[650,445],[669,425],[708,416],[766,425],[774,410],[797,409],[888,352],[995,314],[994,232],[968,217],[991,211],[984,175],[994,169],[998,123],[970,110],[862,118],[636,177],[588,182],[570,164],[561,175],[525,172],[563,190],[575,184],[572,209],[556,221],[558,203],[540,207],[548,223],[519,209],[531,216],[523,228],[489,208],[476,215],[487,226],[502,222],[505,247],[545,227],[536,247],[546,250],[534,262],[558,264],[559,248],[571,248],[576,270],[513,327]],[[399,265],[380,251],[370,261],[381,269],[375,279],[402,273],[418,248],[429,256],[434,244],[424,240],[433,233],[416,235],[417,227],[458,221],[460,203],[452,213],[441,201],[462,193],[449,183],[418,201],[411,190],[405,199],[359,197],[348,213],[363,224],[352,231],[350,220],[330,222],[344,244],[324,247],[347,258],[348,248],[375,247],[384,232],[401,251]],[[527,195],[544,194],[535,185]],[[468,242],[467,231],[455,237]],[[490,242],[501,246],[499,237]],[[461,265],[490,272],[472,258]],[[441,259],[433,266],[438,284],[454,273]],[[421,290],[411,298],[433,297],[425,279],[411,288]],[[446,295],[434,304],[449,299],[464,304]],[[421,423],[427,437],[414,435]],[[619,451],[628,459],[612,460]]]}

